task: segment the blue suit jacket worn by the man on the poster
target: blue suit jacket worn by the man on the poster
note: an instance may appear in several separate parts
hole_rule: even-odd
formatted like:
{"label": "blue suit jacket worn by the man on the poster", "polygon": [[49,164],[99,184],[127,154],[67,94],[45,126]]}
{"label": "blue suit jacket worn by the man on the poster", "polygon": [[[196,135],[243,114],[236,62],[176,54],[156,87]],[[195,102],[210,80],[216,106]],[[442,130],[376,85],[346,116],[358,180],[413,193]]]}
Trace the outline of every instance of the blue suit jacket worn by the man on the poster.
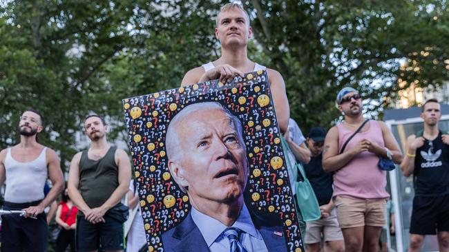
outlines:
{"label": "blue suit jacket worn by the man on the poster", "polygon": [[[275,218],[271,218],[271,220],[278,218],[278,216],[275,216]],[[278,232],[283,234],[282,225],[264,226],[263,222],[267,222],[267,220],[258,220],[258,218],[254,218],[252,215],[251,220],[253,220],[254,226],[262,235],[265,246],[267,246],[269,252],[287,251],[285,236],[276,235],[274,233]],[[278,222],[280,222],[280,220]],[[162,233],[162,244],[164,245],[164,252],[209,252],[207,243],[202,237],[200,229],[198,229],[195,222],[193,222],[190,213],[177,227]]]}

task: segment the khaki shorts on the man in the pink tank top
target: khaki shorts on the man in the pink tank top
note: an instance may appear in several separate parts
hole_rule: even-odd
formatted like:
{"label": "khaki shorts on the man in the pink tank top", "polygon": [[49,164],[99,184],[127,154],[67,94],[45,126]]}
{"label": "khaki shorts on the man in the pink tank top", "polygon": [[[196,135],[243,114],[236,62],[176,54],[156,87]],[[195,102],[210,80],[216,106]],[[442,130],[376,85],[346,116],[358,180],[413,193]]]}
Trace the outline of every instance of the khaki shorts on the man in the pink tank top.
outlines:
{"label": "khaki shorts on the man in the pink tank top", "polygon": [[337,209],[338,223],[342,229],[352,227],[383,227],[387,223],[387,200],[365,200],[336,196],[334,204]]}

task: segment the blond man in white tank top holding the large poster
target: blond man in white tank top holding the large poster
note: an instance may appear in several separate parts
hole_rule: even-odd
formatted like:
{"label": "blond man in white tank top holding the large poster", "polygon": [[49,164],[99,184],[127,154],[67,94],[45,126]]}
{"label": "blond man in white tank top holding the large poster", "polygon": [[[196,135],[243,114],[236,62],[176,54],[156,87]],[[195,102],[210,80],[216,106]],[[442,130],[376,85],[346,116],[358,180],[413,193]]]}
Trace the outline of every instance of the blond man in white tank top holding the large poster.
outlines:
{"label": "blond man in white tank top holding the large poster", "polygon": [[244,72],[267,70],[280,131],[286,132],[290,113],[283,77],[278,71],[248,59],[247,43],[252,34],[248,13],[238,3],[227,3],[217,16],[215,28],[222,56],[187,72],[181,85],[187,86],[218,78],[221,83],[230,83],[235,76],[243,76]]}

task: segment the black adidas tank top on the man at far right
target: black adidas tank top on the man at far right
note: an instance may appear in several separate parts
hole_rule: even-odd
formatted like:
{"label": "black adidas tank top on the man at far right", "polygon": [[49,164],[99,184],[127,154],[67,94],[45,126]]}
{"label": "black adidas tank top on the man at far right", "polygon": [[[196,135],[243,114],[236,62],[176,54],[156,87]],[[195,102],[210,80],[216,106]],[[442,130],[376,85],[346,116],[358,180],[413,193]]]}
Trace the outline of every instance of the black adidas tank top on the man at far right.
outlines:
{"label": "black adidas tank top on the man at far right", "polygon": [[424,142],[414,159],[415,195],[443,196],[449,193],[449,146],[437,138]]}

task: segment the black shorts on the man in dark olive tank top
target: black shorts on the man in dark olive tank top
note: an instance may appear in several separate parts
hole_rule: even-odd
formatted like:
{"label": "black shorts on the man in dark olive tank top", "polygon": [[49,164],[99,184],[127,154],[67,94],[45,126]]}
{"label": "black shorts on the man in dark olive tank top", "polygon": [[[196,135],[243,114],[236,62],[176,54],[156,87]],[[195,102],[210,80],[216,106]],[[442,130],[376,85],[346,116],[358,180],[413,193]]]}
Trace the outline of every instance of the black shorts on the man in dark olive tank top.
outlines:
{"label": "black shorts on the man in dark olive tank top", "polygon": [[122,250],[124,249],[124,227],[122,222],[107,214],[103,216],[105,222],[92,224],[84,218],[77,216],[77,250],[93,251]]}

